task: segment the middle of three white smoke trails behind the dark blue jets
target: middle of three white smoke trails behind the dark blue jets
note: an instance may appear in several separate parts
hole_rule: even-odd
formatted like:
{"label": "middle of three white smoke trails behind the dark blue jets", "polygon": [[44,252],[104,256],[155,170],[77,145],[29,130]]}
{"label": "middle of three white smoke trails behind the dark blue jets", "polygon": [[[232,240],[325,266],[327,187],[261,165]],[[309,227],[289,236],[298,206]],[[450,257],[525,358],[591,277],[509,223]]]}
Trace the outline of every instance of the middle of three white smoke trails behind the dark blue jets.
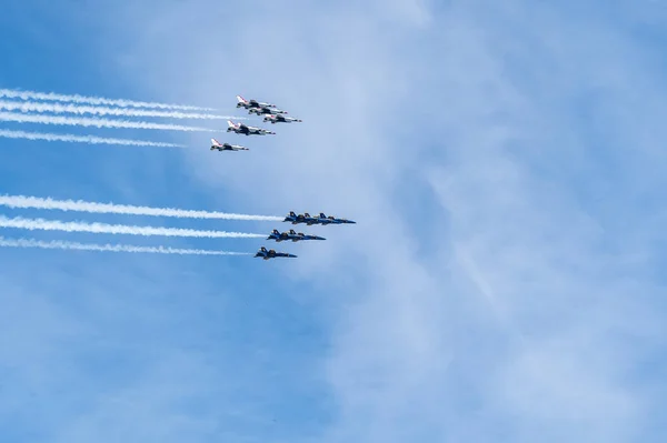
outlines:
{"label": "middle of three white smoke trails behind the dark blue jets", "polygon": [[207,239],[259,239],[263,234],[249,234],[245,232],[227,231],[198,231],[195,229],[180,228],[153,228],[131,226],[125,224],[63,222],[59,220],[43,219],[9,219],[0,215],[0,228],[27,229],[30,231],[64,231],[64,232],[90,232],[96,234],[127,234],[127,235],[163,235],[163,236],[197,236]]}

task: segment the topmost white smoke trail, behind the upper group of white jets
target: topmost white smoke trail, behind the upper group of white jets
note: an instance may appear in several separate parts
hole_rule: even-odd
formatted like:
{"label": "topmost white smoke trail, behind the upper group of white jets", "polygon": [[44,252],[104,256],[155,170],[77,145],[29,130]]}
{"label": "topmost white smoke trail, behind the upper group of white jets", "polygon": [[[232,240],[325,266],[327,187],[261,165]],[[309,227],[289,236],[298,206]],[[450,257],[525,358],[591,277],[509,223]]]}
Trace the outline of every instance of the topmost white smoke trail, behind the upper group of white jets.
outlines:
{"label": "topmost white smoke trail, behind the upper group of white jets", "polygon": [[59,94],[54,92],[37,92],[37,91],[18,91],[11,89],[0,89],[0,97],[8,99],[20,100],[43,100],[43,101],[61,101],[70,103],[83,104],[107,104],[121,108],[157,108],[157,109],[182,109],[191,111],[215,111],[215,108],[200,108],[186,104],[170,104],[148,101],[135,101],[123,99],[106,99],[103,97],[86,97],[79,94]]}

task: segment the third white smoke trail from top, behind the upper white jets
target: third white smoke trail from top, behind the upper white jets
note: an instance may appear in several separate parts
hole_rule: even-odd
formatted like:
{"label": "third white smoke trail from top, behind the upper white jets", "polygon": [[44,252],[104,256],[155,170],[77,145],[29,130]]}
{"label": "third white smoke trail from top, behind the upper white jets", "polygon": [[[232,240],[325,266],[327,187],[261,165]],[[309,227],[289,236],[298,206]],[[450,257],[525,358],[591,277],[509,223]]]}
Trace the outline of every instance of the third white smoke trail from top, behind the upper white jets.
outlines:
{"label": "third white smoke trail from top, behind the upper white jets", "polygon": [[0,112],[0,120],[17,123],[41,123],[70,127],[94,127],[94,128],[130,128],[130,129],[156,129],[161,131],[201,131],[219,132],[220,130],[183,127],[180,124],[150,123],[147,121],[108,120],[84,117],[60,117],[60,115],[33,115],[11,112]]}

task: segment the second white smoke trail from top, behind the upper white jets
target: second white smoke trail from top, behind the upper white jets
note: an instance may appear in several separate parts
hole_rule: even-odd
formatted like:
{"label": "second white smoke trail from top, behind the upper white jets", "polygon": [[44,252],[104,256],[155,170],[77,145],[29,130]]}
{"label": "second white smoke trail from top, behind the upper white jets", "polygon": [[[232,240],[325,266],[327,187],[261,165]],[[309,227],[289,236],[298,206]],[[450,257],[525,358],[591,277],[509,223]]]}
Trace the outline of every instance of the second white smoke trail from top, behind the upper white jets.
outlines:
{"label": "second white smoke trail from top, behind the upper white jets", "polygon": [[60,103],[36,103],[0,101],[0,109],[6,111],[20,112],[51,112],[70,114],[93,114],[93,115],[121,115],[121,117],[163,117],[170,119],[199,119],[199,120],[248,120],[246,117],[218,115],[209,113],[193,113],[180,111],[160,111],[150,109],[128,109],[109,107],[89,107],[82,104],[60,104]]}

